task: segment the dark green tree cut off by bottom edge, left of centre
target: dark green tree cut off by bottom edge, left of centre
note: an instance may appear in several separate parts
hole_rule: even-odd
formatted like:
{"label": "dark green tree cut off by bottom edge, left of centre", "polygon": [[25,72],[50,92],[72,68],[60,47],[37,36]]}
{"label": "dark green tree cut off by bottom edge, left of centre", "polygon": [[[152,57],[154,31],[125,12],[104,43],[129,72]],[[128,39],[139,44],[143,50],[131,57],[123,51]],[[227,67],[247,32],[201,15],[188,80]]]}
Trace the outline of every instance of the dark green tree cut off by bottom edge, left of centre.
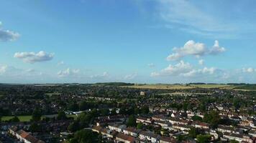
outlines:
{"label": "dark green tree cut off by bottom edge, left of centre", "polygon": [[92,132],[90,129],[81,129],[77,131],[70,143],[91,143],[99,142],[99,134]]}

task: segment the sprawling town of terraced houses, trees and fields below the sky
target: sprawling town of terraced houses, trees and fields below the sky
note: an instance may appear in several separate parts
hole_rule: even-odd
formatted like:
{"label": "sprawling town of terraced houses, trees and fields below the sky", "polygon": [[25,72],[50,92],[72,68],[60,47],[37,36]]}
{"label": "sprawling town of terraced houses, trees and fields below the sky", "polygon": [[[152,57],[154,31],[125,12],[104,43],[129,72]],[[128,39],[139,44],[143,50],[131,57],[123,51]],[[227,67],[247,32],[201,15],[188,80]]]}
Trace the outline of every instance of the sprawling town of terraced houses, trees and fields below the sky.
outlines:
{"label": "sprawling town of terraced houses, trees and fields below the sky", "polygon": [[0,84],[0,142],[254,143],[255,84]]}

